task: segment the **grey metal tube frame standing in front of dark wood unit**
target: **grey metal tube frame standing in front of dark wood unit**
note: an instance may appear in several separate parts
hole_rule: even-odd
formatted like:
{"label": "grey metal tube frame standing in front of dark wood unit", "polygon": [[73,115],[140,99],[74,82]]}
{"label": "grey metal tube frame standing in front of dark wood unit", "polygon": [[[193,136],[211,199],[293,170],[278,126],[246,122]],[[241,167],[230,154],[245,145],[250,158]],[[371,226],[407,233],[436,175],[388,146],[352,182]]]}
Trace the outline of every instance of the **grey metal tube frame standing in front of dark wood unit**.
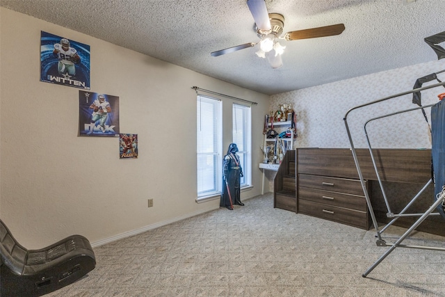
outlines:
{"label": "grey metal tube frame standing in front of dark wood unit", "polygon": [[[428,249],[428,250],[443,250],[443,251],[445,251],[445,248],[437,248],[437,247],[428,247],[428,246],[406,246],[406,245],[402,245],[401,244],[401,242],[409,235],[409,234],[411,234],[411,232],[412,231],[414,231],[415,230],[415,228],[416,227],[418,227],[422,222],[423,222],[423,220],[425,220],[428,216],[430,216],[430,214],[432,214],[432,211],[434,211],[435,209],[436,209],[436,207],[437,206],[439,206],[439,204],[441,203],[441,201],[439,200],[439,199],[437,199],[436,200],[436,202],[434,203],[434,204],[432,204],[432,206],[425,212],[425,213],[423,213],[423,214],[421,214],[421,216],[420,216],[420,218],[418,219],[418,220],[416,220],[416,222],[401,236],[401,238],[400,239],[398,239],[395,243],[386,243],[386,241],[384,241],[384,240],[382,240],[382,235],[381,235],[381,231],[380,231],[380,229],[379,229],[379,226],[378,226],[378,222],[377,222],[377,219],[375,218],[375,214],[374,214],[374,210],[373,210],[373,207],[372,207],[372,204],[371,204],[371,199],[370,199],[370,197],[369,197],[369,193],[368,193],[368,190],[367,190],[367,188],[366,188],[366,183],[365,183],[365,181],[364,181],[364,177],[363,177],[363,175],[362,175],[362,170],[360,169],[360,164],[359,164],[359,161],[358,161],[358,158],[357,158],[357,152],[355,151],[355,146],[354,146],[354,141],[353,141],[353,138],[352,138],[352,136],[351,136],[351,134],[350,134],[350,129],[349,129],[349,126],[348,126],[348,120],[347,120],[347,118],[348,118],[348,115],[349,115],[349,113],[351,113],[352,111],[355,111],[355,110],[357,110],[357,109],[361,109],[362,107],[365,107],[365,106],[369,106],[369,105],[372,105],[372,104],[377,104],[377,103],[379,103],[379,102],[384,102],[384,101],[386,101],[386,100],[389,100],[389,99],[394,99],[394,98],[396,98],[396,97],[401,97],[401,96],[403,96],[403,95],[409,95],[409,94],[412,94],[412,93],[417,93],[417,92],[421,92],[422,90],[428,90],[428,89],[430,89],[430,88],[437,88],[437,87],[439,87],[439,86],[445,86],[445,82],[441,82],[441,83],[435,83],[435,84],[432,84],[432,85],[430,85],[430,86],[425,86],[425,87],[422,87],[422,88],[416,88],[416,89],[413,89],[413,90],[409,90],[409,91],[406,91],[406,92],[403,92],[403,93],[398,93],[398,94],[396,94],[396,95],[391,95],[391,96],[388,96],[388,97],[384,97],[384,98],[382,98],[382,99],[378,99],[378,100],[375,100],[375,101],[373,101],[373,102],[369,102],[369,103],[366,103],[366,104],[361,104],[361,105],[359,105],[359,106],[355,106],[355,107],[353,107],[352,109],[349,109],[347,112],[346,112],[346,115],[344,116],[344,118],[343,118],[343,121],[345,122],[345,126],[346,126],[346,133],[348,134],[348,139],[349,139],[349,142],[350,142],[350,150],[351,150],[351,152],[353,153],[353,159],[354,159],[354,162],[355,162],[355,167],[357,168],[357,173],[358,173],[358,175],[359,175],[359,180],[360,180],[360,183],[362,184],[362,189],[363,189],[363,192],[364,192],[364,196],[365,196],[365,199],[366,199],[366,204],[368,204],[368,209],[369,209],[369,212],[370,212],[370,215],[371,215],[371,219],[372,219],[372,221],[373,221],[373,226],[374,226],[374,228],[375,228],[375,231],[377,232],[376,233],[376,237],[378,238],[378,240],[377,240],[377,246],[391,246],[391,248],[389,248],[389,250],[387,250],[387,252],[385,252],[385,254],[383,254],[370,268],[368,268],[368,270],[362,275],[364,278],[366,278],[366,275],[368,275],[371,271],[373,271],[373,269],[376,267],[376,266],[378,266],[378,264],[380,264],[380,262],[382,262],[382,260],[383,259],[385,259],[385,257],[387,257],[387,255],[389,255],[396,247],[401,247],[401,248],[421,248],[421,249]],[[434,105],[434,104],[432,104],[432,105]],[[421,106],[421,107],[419,107],[419,109],[421,109],[421,108],[426,108],[426,107],[429,107],[429,105],[428,106]],[[400,112],[397,112],[397,113],[391,113],[391,114],[388,114],[388,115],[383,115],[383,116],[381,116],[381,117],[378,117],[378,118],[384,118],[384,117],[387,117],[387,116],[390,116],[390,115],[395,115],[395,114],[398,114],[398,113],[403,113],[403,112],[407,112],[407,111],[412,111],[412,110],[415,110],[415,109],[409,109],[409,110],[405,110],[405,111],[400,111]],[[373,118],[373,119],[371,119],[371,120],[377,120],[378,118]],[[371,121],[371,120],[369,120],[369,121]],[[366,134],[366,139],[367,139],[367,141],[368,141],[368,145],[369,145],[369,152],[370,152],[370,154],[371,154],[371,159],[372,159],[372,161],[373,161],[373,166],[374,166],[374,169],[375,169],[375,172],[376,172],[376,174],[377,174],[377,177],[378,177],[378,182],[379,182],[379,185],[380,185],[380,188],[382,189],[382,193],[383,193],[383,195],[384,195],[384,198],[385,198],[385,203],[387,204],[387,208],[388,208],[388,211],[389,211],[389,214],[391,214],[391,211],[390,211],[390,208],[389,208],[389,204],[388,204],[388,202],[387,202],[387,198],[386,198],[386,194],[385,194],[385,190],[384,190],[384,188],[382,187],[382,182],[381,182],[381,180],[380,180],[380,176],[379,176],[379,174],[378,174],[378,168],[377,168],[377,166],[375,165],[375,160],[374,160],[374,158],[373,158],[373,152],[372,152],[372,148],[371,148],[371,144],[369,143],[369,137],[368,137],[368,135],[367,135],[367,131],[366,131],[366,124],[369,122],[369,121],[367,121],[366,123],[365,123],[365,125],[364,125],[364,127],[365,127],[365,134]],[[419,198],[419,195],[425,190],[425,188],[431,183],[432,181],[430,180],[430,181],[428,181],[427,183],[426,183],[426,185],[425,186],[423,186],[423,188],[421,189],[421,191],[413,198],[413,200],[401,211],[401,214],[400,214],[400,216],[407,216],[407,215],[404,215],[404,212],[408,209],[408,207],[410,207],[410,205],[417,199],[417,198]],[[411,214],[412,215],[412,214]],[[416,214],[416,215],[420,215],[420,214]],[[394,218],[394,220],[391,220],[391,222],[390,222],[390,224],[392,224],[392,223],[394,223],[394,221],[398,218],[398,217],[400,217],[400,216],[397,216],[396,218]],[[386,230],[386,228],[387,227],[389,227],[389,226],[386,226],[382,231],[384,231],[384,230]]]}

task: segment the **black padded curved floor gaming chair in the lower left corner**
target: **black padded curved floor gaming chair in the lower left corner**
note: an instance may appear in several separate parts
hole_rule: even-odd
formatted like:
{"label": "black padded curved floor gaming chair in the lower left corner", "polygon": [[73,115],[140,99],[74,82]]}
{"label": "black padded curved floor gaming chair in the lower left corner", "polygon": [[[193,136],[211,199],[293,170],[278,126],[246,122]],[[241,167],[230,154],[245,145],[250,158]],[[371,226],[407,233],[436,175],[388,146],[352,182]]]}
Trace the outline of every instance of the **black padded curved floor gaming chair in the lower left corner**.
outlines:
{"label": "black padded curved floor gaming chair in the lower left corner", "polygon": [[0,296],[42,296],[79,280],[96,266],[90,241],[72,235],[47,248],[27,250],[0,220]]}

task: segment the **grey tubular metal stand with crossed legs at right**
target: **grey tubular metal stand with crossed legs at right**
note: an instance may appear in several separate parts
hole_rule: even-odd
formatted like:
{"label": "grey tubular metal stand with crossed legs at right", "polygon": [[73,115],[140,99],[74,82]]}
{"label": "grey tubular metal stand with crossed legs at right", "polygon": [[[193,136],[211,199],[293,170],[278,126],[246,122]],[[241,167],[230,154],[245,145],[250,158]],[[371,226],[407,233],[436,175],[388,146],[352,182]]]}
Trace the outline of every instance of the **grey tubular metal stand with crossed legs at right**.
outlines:
{"label": "grey tubular metal stand with crossed legs at right", "polygon": [[[402,210],[399,214],[394,214],[394,213],[391,211],[391,208],[389,207],[389,202],[388,202],[388,200],[387,200],[387,196],[386,196],[386,193],[385,193],[385,189],[383,188],[382,180],[380,179],[380,175],[379,175],[379,172],[378,172],[378,168],[377,168],[377,166],[376,166],[375,159],[374,159],[374,156],[373,156],[373,149],[372,149],[372,147],[371,147],[371,142],[369,141],[368,132],[366,131],[366,125],[368,125],[368,123],[371,122],[371,121],[373,121],[373,120],[379,120],[379,119],[381,119],[381,118],[386,118],[386,117],[389,117],[389,116],[391,116],[391,115],[396,115],[396,114],[399,114],[399,113],[406,113],[406,112],[415,111],[415,110],[418,110],[418,109],[426,109],[426,108],[428,108],[428,107],[432,107],[432,106],[434,106],[435,104],[429,104],[429,105],[426,105],[426,106],[419,106],[419,107],[416,107],[416,108],[413,108],[413,109],[405,109],[405,110],[403,110],[403,111],[397,111],[397,112],[395,112],[395,113],[388,113],[388,114],[386,114],[386,115],[381,115],[381,116],[379,116],[379,117],[371,118],[370,120],[367,120],[367,121],[365,122],[365,124],[364,124],[364,133],[365,133],[365,136],[366,136],[367,145],[368,145],[368,148],[369,148],[369,152],[370,152],[370,154],[371,154],[371,160],[372,160],[372,163],[373,163],[373,167],[374,167],[374,169],[375,169],[375,174],[376,174],[377,177],[378,177],[378,184],[379,184],[379,186],[380,186],[380,190],[382,191],[382,195],[383,195],[383,198],[384,198],[384,200],[385,200],[385,204],[386,204],[386,207],[387,207],[387,210],[388,210],[388,212],[387,212],[387,216],[388,216],[388,218],[392,218],[392,220],[391,220],[387,225],[385,225],[385,227],[383,227],[382,229],[379,229],[378,222],[377,222],[377,220],[376,220],[376,218],[375,218],[375,214],[374,214],[373,207],[372,207],[372,204],[371,204],[371,199],[370,199],[368,190],[367,190],[367,188],[366,188],[366,183],[365,183],[365,181],[364,181],[364,177],[363,177],[363,175],[362,175],[362,170],[360,170],[360,164],[359,164],[359,161],[358,161],[358,158],[357,158],[357,153],[356,153],[356,151],[355,151],[353,138],[352,138],[352,136],[351,136],[351,134],[350,134],[350,129],[349,129],[349,126],[348,126],[348,120],[347,120],[348,115],[349,115],[349,113],[351,113],[352,111],[355,111],[355,110],[357,110],[357,109],[361,109],[361,108],[364,107],[364,106],[369,106],[369,105],[372,105],[372,104],[377,104],[377,103],[379,103],[379,102],[383,102],[383,101],[386,101],[386,100],[389,100],[389,99],[393,99],[393,98],[396,98],[396,97],[401,97],[401,96],[403,96],[403,95],[409,95],[409,94],[412,94],[412,93],[418,93],[418,92],[421,92],[422,90],[427,90],[427,89],[430,89],[430,88],[436,88],[436,87],[439,87],[439,86],[444,86],[444,87],[445,87],[445,82],[435,83],[435,84],[433,84],[433,85],[426,86],[426,87],[422,87],[422,88],[416,88],[416,89],[414,89],[414,90],[409,90],[409,91],[407,91],[407,92],[398,93],[398,94],[396,94],[396,95],[391,95],[391,96],[389,96],[389,97],[385,97],[385,98],[382,98],[382,99],[375,100],[375,101],[373,101],[373,102],[369,102],[369,103],[366,103],[366,104],[362,104],[362,105],[359,105],[359,106],[355,106],[355,107],[353,107],[352,109],[350,109],[350,110],[346,113],[345,117],[343,118],[343,120],[344,120],[344,122],[345,122],[345,125],[346,125],[346,132],[347,132],[347,134],[348,134],[348,138],[349,138],[349,141],[350,141],[351,151],[352,151],[352,153],[353,153],[353,158],[354,158],[354,161],[355,161],[355,166],[356,166],[356,168],[357,168],[357,172],[358,172],[358,175],[359,175],[359,179],[360,179],[360,182],[361,182],[361,184],[362,184],[363,191],[364,191],[364,196],[365,196],[365,199],[366,199],[366,204],[368,204],[369,212],[370,212],[370,214],[371,214],[371,219],[372,219],[372,221],[373,221],[373,225],[374,225],[374,228],[375,228],[375,231],[376,231],[376,237],[377,237],[376,244],[377,244],[377,246],[389,246],[389,247],[390,247],[390,248],[389,248],[389,249],[388,249],[382,256],[380,256],[380,258],[377,259],[377,261],[375,261],[375,263],[374,263],[372,266],[370,266],[370,267],[363,273],[362,276],[363,276],[364,278],[366,278],[366,275],[368,275],[369,273],[371,273],[371,271],[373,271],[373,269],[374,269],[376,266],[378,266],[378,264],[380,264],[380,262],[382,262],[383,259],[385,259],[385,258],[386,258],[386,257],[393,251],[393,250],[395,250],[395,249],[398,248],[398,247],[400,247],[400,248],[418,248],[418,249],[425,249],[425,250],[442,250],[442,251],[445,251],[445,248],[438,248],[438,247],[433,247],[433,246],[412,246],[412,245],[404,245],[404,244],[401,244],[402,241],[405,240],[405,239],[407,238],[407,236],[409,236],[409,235],[416,229],[416,227],[418,227],[418,226],[423,222],[423,220],[425,220],[428,216],[436,216],[436,215],[439,215],[439,216],[440,216],[440,215],[441,215],[441,214],[439,214],[439,213],[433,213],[433,211],[434,211],[437,207],[439,207],[439,205],[442,203],[442,200],[445,199],[445,197],[442,197],[443,195],[445,195],[445,194],[444,194],[445,191],[442,191],[442,194],[440,195],[440,197],[437,197],[436,201],[435,201],[435,202],[434,202],[434,203],[433,203],[433,204],[432,204],[432,205],[431,205],[431,206],[430,206],[430,207],[429,207],[423,214],[405,214],[405,212],[407,211],[407,209],[409,209],[410,206],[417,200],[417,198],[420,197],[421,193],[423,193],[423,191],[425,191],[426,188],[427,188],[430,184],[432,184],[432,179],[430,179],[428,182],[426,182],[425,186],[423,186],[423,188],[421,188],[421,190],[419,191],[419,193],[417,193],[417,194],[414,196],[414,198],[412,198],[412,200],[406,205],[406,207],[403,208],[403,210]],[[412,224],[411,227],[409,227],[409,228],[407,229],[407,231],[406,231],[406,232],[405,232],[405,233],[404,233],[404,234],[403,234],[397,241],[395,241],[394,243],[387,243],[384,239],[382,239],[382,233],[385,232],[385,230],[387,230],[387,228],[388,228],[390,225],[392,225],[398,218],[401,218],[402,216],[419,216],[419,218],[416,220],[415,223]]]}

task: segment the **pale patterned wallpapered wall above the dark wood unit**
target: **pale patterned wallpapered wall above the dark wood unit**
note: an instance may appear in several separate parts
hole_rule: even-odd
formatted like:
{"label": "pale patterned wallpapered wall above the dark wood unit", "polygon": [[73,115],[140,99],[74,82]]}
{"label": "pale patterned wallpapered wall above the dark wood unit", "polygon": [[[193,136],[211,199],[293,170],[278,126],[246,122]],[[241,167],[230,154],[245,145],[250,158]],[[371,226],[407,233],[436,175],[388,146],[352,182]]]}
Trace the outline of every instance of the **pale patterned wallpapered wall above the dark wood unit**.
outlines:
{"label": "pale patterned wallpapered wall above the dark wood unit", "polygon": [[[293,105],[297,115],[296,147],[350,147],[343,120],[349,109],[412,90],[416,79],[444,69],[445,59],[293,90],[271,96],[270,111],[276,111],[282,104]],[[437,78],[445,81],[445,72],[438,74]],[[423,83],[423,86],[434,83],[438,81]],[[422,104],[437,102],[440,93],[445,93],[442,86],[423,91]],[[412,95],[403,95],[351,111],[347,120],[355,147],[367,147],[364,135],[364,123],[367,120],[416,106],[412,103]],[[429,108],[426,113],[429,116]],[[372,147],[431,146],[428,124],[421,110],[372,121],[366,129]]]}

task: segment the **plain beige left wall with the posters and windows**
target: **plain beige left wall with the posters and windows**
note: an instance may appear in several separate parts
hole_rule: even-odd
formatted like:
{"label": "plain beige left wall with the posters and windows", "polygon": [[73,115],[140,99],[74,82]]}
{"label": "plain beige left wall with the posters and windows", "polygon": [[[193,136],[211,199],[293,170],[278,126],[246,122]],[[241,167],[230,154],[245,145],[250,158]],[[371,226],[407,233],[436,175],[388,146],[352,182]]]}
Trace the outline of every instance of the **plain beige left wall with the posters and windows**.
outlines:
{"label": "plain beige left wall with the posters and windows", "polygon": [[[195,202],[192,86],[258,102],[252,106],[254,187],[241,199],[261,194],[257,164],[268,95],[6,8],[0,13],[0,218],[26,248],[71,234],[99,244],[218,208],[219,200]],[[91,91],[120,97],[120,131],[138,134],[138,159],[120,160],[117,138],[77,136],[79,89],[39,81],[40,31],[90,45]],[[232,100],[223,104],[231,131]],[[154,207],[147,207],[148,198]]]}

